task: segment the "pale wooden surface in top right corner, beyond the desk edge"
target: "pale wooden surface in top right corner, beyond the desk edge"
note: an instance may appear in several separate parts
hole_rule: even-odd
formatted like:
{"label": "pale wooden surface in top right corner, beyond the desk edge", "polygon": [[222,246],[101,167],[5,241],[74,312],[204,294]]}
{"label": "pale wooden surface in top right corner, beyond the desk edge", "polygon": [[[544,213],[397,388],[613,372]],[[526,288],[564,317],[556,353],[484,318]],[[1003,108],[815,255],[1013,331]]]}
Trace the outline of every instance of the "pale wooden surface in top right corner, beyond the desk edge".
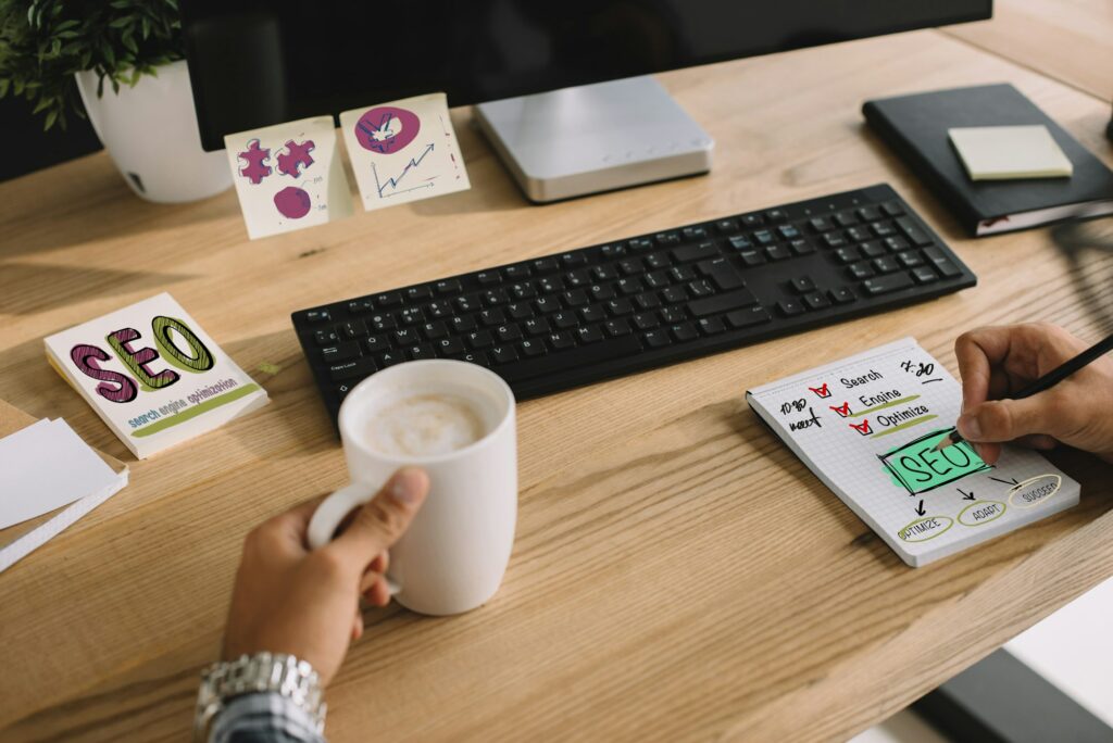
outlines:
{"label": "pale wooden surface in top right corner, beyond the desk edge", "polygon": [[994,0],[992,20],[952,26],[946,32],[1113,101],[1109,0]]}

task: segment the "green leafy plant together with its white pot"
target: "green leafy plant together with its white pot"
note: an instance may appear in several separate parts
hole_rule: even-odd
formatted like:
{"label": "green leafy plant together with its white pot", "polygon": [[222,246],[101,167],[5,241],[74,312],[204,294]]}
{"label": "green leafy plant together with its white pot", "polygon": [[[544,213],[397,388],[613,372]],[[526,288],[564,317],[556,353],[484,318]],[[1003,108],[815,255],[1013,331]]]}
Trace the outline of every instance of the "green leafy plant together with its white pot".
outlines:
{"label": "green leafy plant together with its white pot", "polygon": [[183,57],[177,0],[0,0],[0,97],[26,98],[47,129],[88,113],[151,201],[232,186],[225,155],[201,149]]}

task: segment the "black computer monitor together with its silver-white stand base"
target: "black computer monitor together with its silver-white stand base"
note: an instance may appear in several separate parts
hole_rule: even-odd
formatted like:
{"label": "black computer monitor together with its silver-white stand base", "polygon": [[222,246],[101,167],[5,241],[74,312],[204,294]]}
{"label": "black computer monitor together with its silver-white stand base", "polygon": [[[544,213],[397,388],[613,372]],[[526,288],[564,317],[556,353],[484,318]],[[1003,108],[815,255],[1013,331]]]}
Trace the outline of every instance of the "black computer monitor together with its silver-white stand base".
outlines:
{"label": "black computer monitor together with its silver-white stand base", "polygon": [[481,127],[534,200],[710,167],[711,139],[639,76],[992,13],[992,0],[180,6],[206,149],[226,133],[444,91],[451,106],[481,105]]}

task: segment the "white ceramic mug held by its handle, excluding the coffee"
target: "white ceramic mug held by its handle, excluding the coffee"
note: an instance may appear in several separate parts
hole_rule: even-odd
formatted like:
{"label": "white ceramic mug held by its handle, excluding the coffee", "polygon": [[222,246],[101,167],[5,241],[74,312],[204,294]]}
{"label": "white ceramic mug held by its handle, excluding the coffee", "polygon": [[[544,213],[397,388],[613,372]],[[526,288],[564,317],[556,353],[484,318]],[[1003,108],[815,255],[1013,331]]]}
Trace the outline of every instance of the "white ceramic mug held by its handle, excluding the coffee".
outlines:
{"label": "white ceramic mug held by its handle, excluding the coffee", "polygon": [[[386,398],[445,394],[467,400],[485,435],[436,456],[372,449],[367,418]],[[332,539],[353,508],[367,503],[398,467],[429,474],[430,492],[406,533],[391,547],[388,582],[403,606],[422,614],[460,614],[486,603],[510,562],[518,519],[518,432],[514,394],[502,377],[450,359],[407,361],[364,379],[339,413],[352,484],[329,495],[309,522],[309,546]]]}

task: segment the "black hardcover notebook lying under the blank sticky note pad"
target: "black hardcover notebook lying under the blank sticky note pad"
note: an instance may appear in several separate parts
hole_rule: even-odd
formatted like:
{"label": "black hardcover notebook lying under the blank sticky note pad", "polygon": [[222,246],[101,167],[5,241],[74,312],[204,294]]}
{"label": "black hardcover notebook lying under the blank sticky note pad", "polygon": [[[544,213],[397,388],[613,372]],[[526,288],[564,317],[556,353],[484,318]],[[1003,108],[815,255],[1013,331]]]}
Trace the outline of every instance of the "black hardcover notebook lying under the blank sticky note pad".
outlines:
{"label": "black hardcover notebook lying under the blank sticky note pad", "polygon": [[[861,112],[975,236],[1113,214],[1113,171],[1011,85],[869,100]],[[954,127],[1038,123],[1074,166],[1070,178],[975,182],[947,137]]]}

